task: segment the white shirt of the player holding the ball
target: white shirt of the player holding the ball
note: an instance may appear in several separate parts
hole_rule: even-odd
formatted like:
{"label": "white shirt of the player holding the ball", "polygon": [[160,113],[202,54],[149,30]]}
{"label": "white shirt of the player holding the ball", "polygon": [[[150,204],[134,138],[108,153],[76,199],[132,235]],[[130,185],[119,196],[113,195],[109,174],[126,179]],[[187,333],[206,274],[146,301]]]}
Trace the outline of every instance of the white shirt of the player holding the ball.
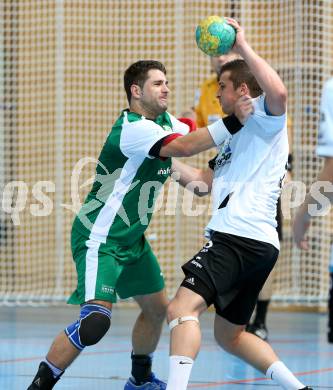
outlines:
{"label": "white shirt of the player holding the ball", "polygon": [[212,186],[212,230],[280,248],[276,207],[288,160],[286,114],[268,115],[265,96],[253,99],[244,127],[218,147]]}

